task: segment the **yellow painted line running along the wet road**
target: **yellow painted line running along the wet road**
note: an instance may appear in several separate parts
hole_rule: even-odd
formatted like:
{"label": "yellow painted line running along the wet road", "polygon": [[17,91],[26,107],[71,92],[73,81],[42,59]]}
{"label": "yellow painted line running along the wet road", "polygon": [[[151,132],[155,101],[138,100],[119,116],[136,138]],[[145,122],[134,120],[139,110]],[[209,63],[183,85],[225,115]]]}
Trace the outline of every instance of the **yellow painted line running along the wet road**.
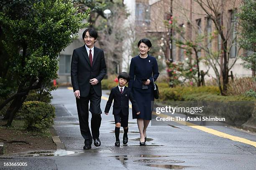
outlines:
{"label": "yellow painted line running along the wet road", "polygon": [[[73,90],[72,87],[68,87],[68,89],[69,90]],[[103,100],[108,100],[108,97],[105,97],[105,96],[101,96],[101,98]],[[129,107],[131,108],[132,106],[129,105]],[[156,114],[156,112],[153,112],[153,115],[157,115],[159,117],[171,117],[169,115],[165,115],[165,114],[162,114],[162,113]],[[216,136],[219,136],[219,137],[222,137],[222,138],[227,138],[227,139],[230,139],[230,140],[233,140],[233,141],[237,141],[237,142],[241,142],[241,143],[246,143],[248,145],[252,145],[252,146],[256,147],[256,142],[248,140],[248,139],[245,139],[245,138],[240,138],[240,137],[237,137],[237,136],[228,135],[228,134],[220,132],[218,130],[214,130],[214,129],[211,129],[211,128],[206,128],[204,126],[195,125],[195,124],[190,123],[190,122],[185,122],[185,121],[174,121],[174,122],[177,122],[177,123],[179,123],[181,125],[187,125],[187,126],[189,126],[191,128],[202,130],[202,131],[204,131],[206,133],[210,133],[212,135],[216,135]]]}

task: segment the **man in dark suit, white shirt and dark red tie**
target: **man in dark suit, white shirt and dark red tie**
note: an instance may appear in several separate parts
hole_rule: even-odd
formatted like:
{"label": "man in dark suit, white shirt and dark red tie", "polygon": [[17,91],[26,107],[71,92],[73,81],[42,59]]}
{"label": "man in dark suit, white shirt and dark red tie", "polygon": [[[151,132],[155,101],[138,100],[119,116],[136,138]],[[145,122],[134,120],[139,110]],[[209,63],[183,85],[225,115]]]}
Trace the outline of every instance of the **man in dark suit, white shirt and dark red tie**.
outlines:
{"label": "man in dark suit, white shirt and dark red tie", "polygon": [[[101,123],[101,80],[106,74],[106,63],[103,50],[94,46],[97,32],[88,28],[83,32],[85,45],[73,51],[71,61],[71,81],[77,102],[80,131],[84,138],[84,149],[100,146]],[[90,109],[89,109],[90,101]],[[89,110],[92,113],[91,129],[89,128]]]}

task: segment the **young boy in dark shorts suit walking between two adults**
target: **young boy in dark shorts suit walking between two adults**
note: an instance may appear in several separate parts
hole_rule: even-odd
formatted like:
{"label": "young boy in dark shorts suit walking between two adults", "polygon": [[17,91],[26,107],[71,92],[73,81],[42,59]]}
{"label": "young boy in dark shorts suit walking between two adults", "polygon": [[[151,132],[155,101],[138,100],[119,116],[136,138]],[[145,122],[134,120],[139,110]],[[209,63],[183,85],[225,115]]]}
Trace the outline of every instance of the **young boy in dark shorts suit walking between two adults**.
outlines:
{"label": "young boy in dark shorts suit walking between two adults", "polygon": [[125,84],[130,80],[130,76],[127,72],[121,72],[118,75],[119,85],[111,89],[110,95],[108,97],[108,102],[105,107],[105,114],[108,115],[112,101],[114,99],[113,105],[113,115],[115,117],[115,146],[120,146],[119,133],[120,126],[123,127],[123,144],[128,143],[128,117],[129,117],[129,99],[131,100],[133,110],[136,114],[140,114],[138,110],[138,105],[133,98],[131,89],[125,87]]}

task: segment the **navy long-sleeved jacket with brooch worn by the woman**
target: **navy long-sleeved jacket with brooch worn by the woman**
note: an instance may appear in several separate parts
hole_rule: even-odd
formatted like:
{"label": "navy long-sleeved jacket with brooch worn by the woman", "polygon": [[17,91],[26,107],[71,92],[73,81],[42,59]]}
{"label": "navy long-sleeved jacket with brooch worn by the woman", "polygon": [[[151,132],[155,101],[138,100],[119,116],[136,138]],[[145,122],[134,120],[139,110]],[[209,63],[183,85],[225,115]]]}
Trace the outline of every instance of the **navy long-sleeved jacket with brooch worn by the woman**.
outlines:
{"label": "navy long-sleeved jacket with brooch worn by the woman", "polygon": [[139,55],[133,57],[131,59],[129,75],[129,88],[136,87],[141,89],[143,84],[141,81],[142,78],[149,79],[150,84],[148,85],[148,88],[152,88],[153,78],[154,81],[156,81],[159,76],[156,58],[151,55],[148,55],[146,58],[141,58]]}

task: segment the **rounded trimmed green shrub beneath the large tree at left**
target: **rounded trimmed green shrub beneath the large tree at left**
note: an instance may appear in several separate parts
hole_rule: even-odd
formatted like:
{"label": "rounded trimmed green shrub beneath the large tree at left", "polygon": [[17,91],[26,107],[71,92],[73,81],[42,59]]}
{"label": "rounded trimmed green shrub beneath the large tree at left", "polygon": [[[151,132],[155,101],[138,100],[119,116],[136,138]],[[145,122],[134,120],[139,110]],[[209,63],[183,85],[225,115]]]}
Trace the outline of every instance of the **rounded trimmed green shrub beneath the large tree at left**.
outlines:
{"label": "rounded trimmed green shrub beneath the large tree at left", "polygon": [[20,114],[24,117],[27,130],[44,132],[54,124],[55,108],[40,101],[23,103]]}

